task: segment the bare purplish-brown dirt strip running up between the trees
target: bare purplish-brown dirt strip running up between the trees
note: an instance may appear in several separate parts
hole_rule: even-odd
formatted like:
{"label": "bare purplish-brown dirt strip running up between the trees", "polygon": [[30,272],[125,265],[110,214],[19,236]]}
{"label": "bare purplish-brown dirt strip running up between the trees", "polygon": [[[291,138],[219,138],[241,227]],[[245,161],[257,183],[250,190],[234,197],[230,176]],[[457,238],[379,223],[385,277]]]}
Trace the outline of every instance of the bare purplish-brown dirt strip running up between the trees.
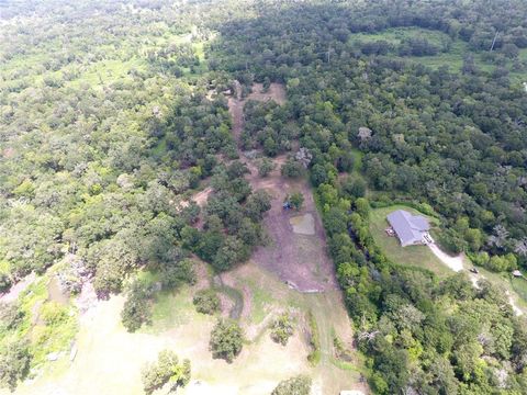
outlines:
{"label": "bare purplish-brown dirt strip running up between the trees", "polygon": [[[268,100],[277,99],[283,103],[285,90],[283,86],[271,84],[267,93],[261,93],[261,84],[255,84],[249,99]],[[238,100],[240,87],[237,84],[236,94],[228,99],[228,111],[233,116],[233,133],[237,140],[244,127],[244,101]],[[268,98],[268,99],[266,99]],[[276,169],[266,178],[258,177],[255,163],[240,155],[240,161],[247,165],[250,174],[247,180],[254,190],[264,189],[272,198],[271,210],[264,221],[270,236],[269,246],[259,247],[253,260],[260,267],[276,273],[288,283],[302,292],[322,292],[336,289],[333,263],[326,255],[326,237],[321,217],[313,201],[313,194],[305,180],[284,180],[280,174],[280,166],[285,161],[285,156],[276,159]],[[288,193],[300,191],[304,195],[304,207],[299,212],[285,212],[282,203]],[[314,235],[294,234],[290,217],[311,214],[314,219]]]}

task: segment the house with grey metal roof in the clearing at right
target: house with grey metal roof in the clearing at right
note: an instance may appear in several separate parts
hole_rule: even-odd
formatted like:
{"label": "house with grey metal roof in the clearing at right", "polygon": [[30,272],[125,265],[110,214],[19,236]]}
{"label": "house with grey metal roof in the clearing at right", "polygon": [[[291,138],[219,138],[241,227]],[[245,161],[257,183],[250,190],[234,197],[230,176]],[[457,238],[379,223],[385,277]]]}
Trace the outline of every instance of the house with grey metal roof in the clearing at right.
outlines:
{"label": "house with grey metal roof in the clearing at right", "polygon": [[414,246],[431,242],[428,230],[430,224],[422,215],[413,215],[405,210],[397,210],[386,217],[393,232],[399,237],[401,246]]}

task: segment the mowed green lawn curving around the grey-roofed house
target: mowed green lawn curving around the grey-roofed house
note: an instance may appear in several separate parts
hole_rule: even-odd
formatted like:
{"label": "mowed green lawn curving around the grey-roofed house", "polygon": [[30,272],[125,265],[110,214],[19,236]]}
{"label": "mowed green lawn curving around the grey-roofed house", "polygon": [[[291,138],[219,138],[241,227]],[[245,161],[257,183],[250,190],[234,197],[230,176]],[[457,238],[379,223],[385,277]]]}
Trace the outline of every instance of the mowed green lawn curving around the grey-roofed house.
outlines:
{"label": "mowed green lawn curving around the grey-roofed house", "polygon": [[389,226],[386,216],[395,210],[406,210],[412,214],[423,215],[428,218],[430,224],[438,225],[438,219],[419,213],[417,210],[404,206],[392,205],[389,207],[373,208],[370,213],[370,232],[375,244],[382,248],[386,257],[396,264],[410,264],[424,268],[439,275],[452,274],[452,271],[442,263],[426,246],[401,247],[396,237],[390,237],[385,233]]}

